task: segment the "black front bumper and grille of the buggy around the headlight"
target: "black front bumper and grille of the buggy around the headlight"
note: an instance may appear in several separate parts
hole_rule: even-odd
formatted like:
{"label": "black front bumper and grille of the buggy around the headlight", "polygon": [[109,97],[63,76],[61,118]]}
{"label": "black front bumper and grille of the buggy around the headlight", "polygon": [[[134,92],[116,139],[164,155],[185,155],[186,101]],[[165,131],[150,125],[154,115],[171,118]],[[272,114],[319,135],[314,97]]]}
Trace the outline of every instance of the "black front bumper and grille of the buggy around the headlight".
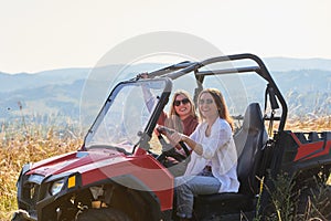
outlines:
{"label": "black front bumper and grille of the buggy around the headlight", "polygon": [[[54,175],[44,177],[41,175],[29,175],[30,165],[25,165],[19,177],[18,206],[19,209],[12,220],[45,220],[54,221],[61,215],[63,209],[70,207],[66,202],[75,190],[81,187],[79,173]],[[75,178],[74,185],[70,182]],[[58,193],[51,193],[50,188],[56,180],[64,179],[64,185]],[[67,199],[68,198],[68,199]]]}

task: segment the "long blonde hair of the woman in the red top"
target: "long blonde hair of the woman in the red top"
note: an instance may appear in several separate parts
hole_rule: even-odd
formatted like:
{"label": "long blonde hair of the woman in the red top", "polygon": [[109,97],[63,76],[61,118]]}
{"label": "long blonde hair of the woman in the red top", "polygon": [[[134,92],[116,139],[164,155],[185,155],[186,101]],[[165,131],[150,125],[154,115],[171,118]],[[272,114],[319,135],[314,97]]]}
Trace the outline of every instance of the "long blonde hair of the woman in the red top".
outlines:
{"label": "long blonde hair of the woman in the red top", "polygon": [[193,99],[191,98],[190,94],[186,91],[179,90],[174,92],[171,103],[170,103],[170,110],[169,110],[169,120],[166,122],[166,126],[175,129],[177,131],[183,133],[183,124],[179,116],[179,114],[175,112],[173,103],[178,95],[183,95],[190,101],[191,104],[191,112],[190,114],[197,119],[195,105],[193,103]]}

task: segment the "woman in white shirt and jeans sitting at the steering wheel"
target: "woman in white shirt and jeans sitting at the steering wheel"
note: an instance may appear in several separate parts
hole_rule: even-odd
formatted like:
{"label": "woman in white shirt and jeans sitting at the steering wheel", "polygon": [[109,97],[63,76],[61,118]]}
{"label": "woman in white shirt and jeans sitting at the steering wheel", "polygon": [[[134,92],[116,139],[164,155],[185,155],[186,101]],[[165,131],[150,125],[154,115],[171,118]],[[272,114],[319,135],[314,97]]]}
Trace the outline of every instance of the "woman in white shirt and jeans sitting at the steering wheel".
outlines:
{"label": "woman in white shirt and jeans sitting at the steering wheel", "polygon": [[174,143],[184,141],[193,150],[185,173],[174,180],[177,214],[182,220],[192,218],[195,194],[237,192],[239,188],[233,120],[222,93],[204,90],[197,105],[203,122],[190,137],[177,131],[167,135]]}

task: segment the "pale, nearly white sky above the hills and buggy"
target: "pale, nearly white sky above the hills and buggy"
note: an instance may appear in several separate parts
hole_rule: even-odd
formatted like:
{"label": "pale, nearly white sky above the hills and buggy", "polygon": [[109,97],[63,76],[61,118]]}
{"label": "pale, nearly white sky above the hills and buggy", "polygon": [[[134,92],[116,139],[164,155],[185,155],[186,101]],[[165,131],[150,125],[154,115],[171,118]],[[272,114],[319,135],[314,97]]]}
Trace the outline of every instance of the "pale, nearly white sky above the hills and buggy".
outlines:
{"label": "pale, nearly white sky above the hills and buggy", "polygon": [[331,59],[329,0],[0,0],[0,71],[92,67],[135,35],[180,31],[225,54]]}

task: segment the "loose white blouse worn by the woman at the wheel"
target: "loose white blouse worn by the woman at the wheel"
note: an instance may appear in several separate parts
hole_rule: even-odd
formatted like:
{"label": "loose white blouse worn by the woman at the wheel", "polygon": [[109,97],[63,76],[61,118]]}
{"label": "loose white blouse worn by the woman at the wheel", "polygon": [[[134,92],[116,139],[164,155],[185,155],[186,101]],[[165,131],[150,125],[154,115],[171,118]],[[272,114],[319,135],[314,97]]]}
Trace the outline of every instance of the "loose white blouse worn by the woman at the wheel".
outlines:
{"label": "loose white blouse worn by the woman at the wheel", "polygon": [[206,128],[207,124],[201,123],[190,136],[202,145],[203,154],[200,156],[192,151],[184,176],[197,175],[211,162],[213,176],[221,182],[218,192],[237,192],[237,152],[231,126],[225,119],[218,118],[213,124],[209,137],[205,136]]}

